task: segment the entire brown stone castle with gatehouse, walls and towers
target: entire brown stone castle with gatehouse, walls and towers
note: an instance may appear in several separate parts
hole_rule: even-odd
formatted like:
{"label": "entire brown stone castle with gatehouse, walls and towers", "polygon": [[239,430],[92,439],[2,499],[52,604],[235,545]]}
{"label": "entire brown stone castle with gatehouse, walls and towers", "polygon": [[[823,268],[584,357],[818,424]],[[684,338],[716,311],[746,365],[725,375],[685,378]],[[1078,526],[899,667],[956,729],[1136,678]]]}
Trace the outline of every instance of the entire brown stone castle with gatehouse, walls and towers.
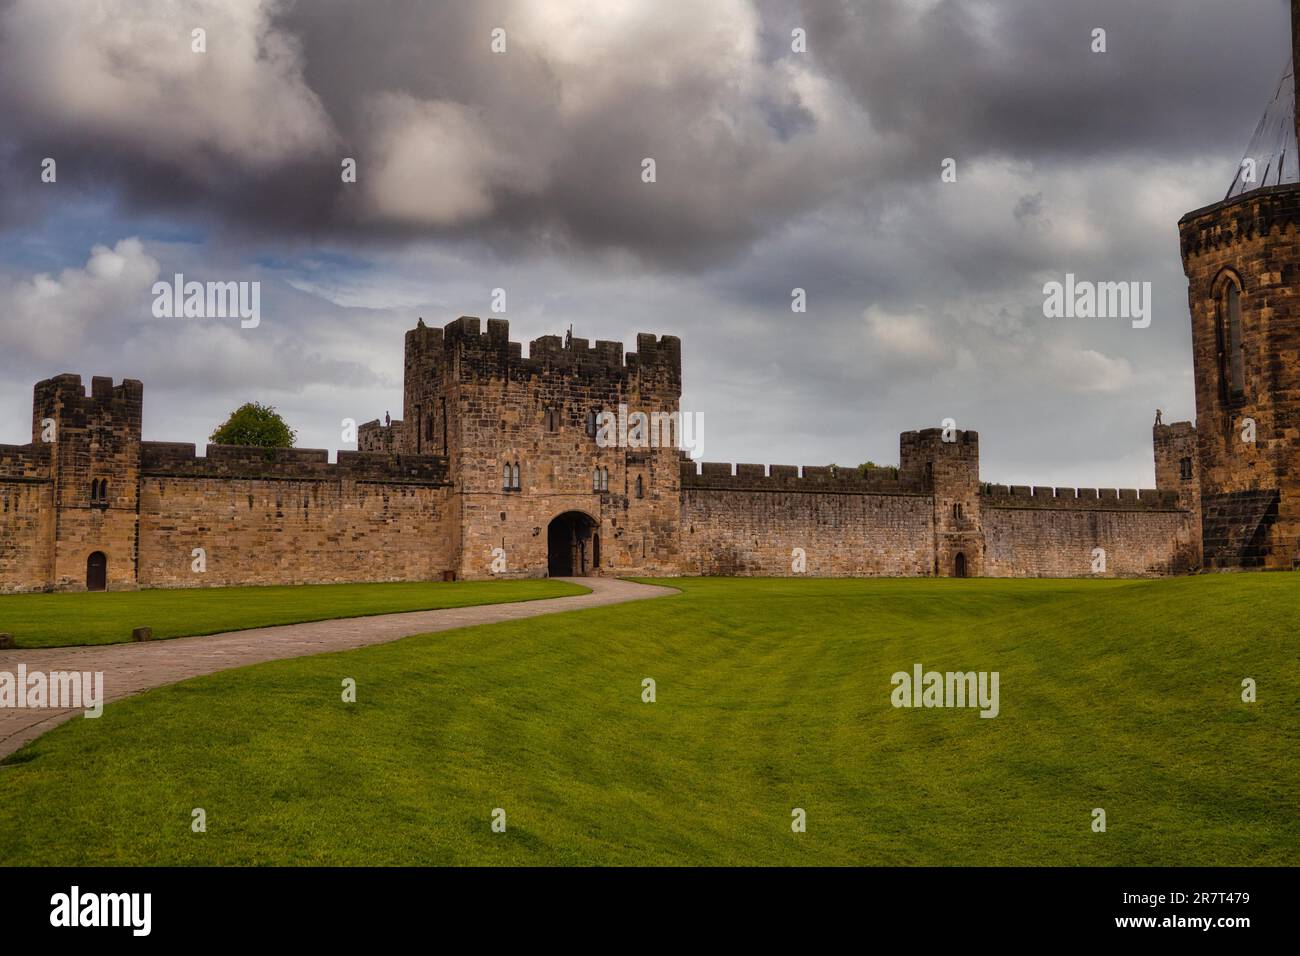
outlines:
{"label": "entire brown stone castle with gatehouse, walls and towers", "polygon": [[897,468],[697,466],[598,433],[623,406],[680,412],[677,338],[640,334],[624,355],[543,336],[525,358],[503,320],[421,320],[403,419],[361,425],[337,463],[143,441],[139,381],[39,382],[31,442],[0,445],[0,592],[1300,567],[1300,0],[1292,18],[1297,53],[1261,124],[1284,133],[1278,155],[1252,143],[1264,174],[1179,222],[1197,424],[1157,416],[1156,489],[985,484],[979,436],[937,428],[905,432]]}

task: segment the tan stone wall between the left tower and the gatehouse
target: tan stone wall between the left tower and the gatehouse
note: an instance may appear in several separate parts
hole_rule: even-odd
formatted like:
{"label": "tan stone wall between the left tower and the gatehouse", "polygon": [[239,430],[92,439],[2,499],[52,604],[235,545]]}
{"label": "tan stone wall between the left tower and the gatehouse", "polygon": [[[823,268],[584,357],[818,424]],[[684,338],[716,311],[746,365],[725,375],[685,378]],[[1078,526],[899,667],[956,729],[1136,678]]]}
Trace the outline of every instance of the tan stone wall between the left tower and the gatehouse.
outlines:
{"label": "tan stone wall between the left tower and the gatehouse", "polygon": [[[139,585],[441,580],[455,567],[446,459],[146,442]],[[192,570],[194,549],[207,570]]]}

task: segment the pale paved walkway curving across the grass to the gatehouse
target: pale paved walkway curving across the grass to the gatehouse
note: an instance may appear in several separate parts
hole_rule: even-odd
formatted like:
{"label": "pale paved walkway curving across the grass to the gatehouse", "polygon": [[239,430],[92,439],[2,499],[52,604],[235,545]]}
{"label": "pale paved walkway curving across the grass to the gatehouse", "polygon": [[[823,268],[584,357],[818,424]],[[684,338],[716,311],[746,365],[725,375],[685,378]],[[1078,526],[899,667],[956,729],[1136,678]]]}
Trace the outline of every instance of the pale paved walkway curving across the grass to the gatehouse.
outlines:
{"label": "pale paved walkway curving across the grass to the gatehouse", "polygon": [[[309,624],[259,627],[229,631],[207,637],[177,637],[146,644],[105,644],[91,648],[18,648],[0,650],[0,671],[103,671],[105,701],[121,700],[162,684],[198,678],[203,674],[243,667],[286,657],[307,657],[330,650],[351,650],[385,644],[430,631],[450,631],[473,624],[536,618],[541,614],[576,611],[584,607],[641,601],[677,593],[612,578],[566,578],[590,588],[590,594],[550,597],[538,601],[446,607],[434,611],[384,614],[370,618],[317,620]],[[51,727],[82,710],[0,708],[0,757],[5,757]]]}

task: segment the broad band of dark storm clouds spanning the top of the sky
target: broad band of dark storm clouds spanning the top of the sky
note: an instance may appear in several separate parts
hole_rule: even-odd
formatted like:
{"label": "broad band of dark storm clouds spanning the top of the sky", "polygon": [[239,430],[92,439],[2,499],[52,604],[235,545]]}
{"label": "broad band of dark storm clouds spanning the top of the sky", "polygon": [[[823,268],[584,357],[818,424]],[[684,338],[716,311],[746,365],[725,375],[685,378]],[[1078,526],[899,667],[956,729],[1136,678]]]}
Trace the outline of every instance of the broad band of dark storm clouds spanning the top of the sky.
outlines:
{"label": "broad band of dark storm clouds spanning the top of the sky", "polygon": [[1244,140],[1240,104],[1262,103],[1284,52],[1258,56],[1251,13],[1278,5],[9,0],[0,222],[53,198],[34,170],[56,156],[61,183],[260,234],[703,268],[831,200],[928,186],[945,156],[1167,160],[1218,117]]}

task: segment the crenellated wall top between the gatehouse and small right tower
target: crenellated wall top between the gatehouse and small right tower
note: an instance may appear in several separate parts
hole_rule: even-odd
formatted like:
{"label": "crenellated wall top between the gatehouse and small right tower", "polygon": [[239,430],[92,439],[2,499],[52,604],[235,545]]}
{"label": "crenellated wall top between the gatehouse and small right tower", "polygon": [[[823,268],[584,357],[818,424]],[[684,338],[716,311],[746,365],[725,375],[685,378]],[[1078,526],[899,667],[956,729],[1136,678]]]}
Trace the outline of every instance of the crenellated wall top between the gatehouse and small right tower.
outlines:
{"label": "crenellated wall top between the gatehouse and small right tower", "polygon": [[[698,467],[697,467],[698,464]],[[734,468],[734,470],[733,470]],[[900,477],[897,468],[736,464],[681,462],[681,488],[702,490],[800,492],[809,494],[928,494],[923,483]]]}

